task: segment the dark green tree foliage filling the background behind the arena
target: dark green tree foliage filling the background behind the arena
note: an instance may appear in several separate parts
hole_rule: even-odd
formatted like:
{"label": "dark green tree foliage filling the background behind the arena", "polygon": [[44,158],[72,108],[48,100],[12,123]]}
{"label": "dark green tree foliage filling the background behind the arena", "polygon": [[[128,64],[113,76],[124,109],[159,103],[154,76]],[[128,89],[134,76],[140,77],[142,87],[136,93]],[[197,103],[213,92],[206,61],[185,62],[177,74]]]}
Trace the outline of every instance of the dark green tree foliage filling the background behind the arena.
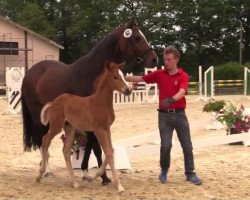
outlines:
{"label": "dark green tree foliage filling the background behind the arena", "polygon": [[0,14],[64,46],[61,60],[73,62],[136,13],[142,32],[162,63],[175,45],[180,66],[193,77],[239,61],[240,21],[243,63],[250,61],[250,1],[247,0],[0,0]]}

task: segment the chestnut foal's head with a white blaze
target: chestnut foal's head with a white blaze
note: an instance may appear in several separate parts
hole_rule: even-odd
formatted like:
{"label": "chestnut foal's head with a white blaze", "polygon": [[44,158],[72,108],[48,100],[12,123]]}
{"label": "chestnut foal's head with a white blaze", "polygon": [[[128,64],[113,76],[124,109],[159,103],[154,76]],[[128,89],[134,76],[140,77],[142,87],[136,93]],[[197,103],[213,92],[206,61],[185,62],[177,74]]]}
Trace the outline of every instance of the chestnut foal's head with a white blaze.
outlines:
{"label": "chestnut foal's head with a white blaze", "polygon": [[113,90],[117,90],[125,95],[129,95],[132,92],[132,87],[128,85],[124,79],[124,75],[120,70],[124,66],[124,63],[116,64],[113,62],[106,62],[106,68],[109,74],[109,80]]}

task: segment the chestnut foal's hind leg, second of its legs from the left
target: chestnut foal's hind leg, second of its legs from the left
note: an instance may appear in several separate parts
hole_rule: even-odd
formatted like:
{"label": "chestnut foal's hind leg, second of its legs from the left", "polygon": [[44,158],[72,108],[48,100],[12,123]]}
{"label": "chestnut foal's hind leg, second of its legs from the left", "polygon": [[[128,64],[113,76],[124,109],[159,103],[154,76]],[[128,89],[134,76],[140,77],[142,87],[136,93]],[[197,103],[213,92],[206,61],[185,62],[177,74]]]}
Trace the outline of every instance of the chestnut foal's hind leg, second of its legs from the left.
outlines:
{"label": "chestnut foal's hind leg, second of its legs from the left", "polygon": [[74,137],[75,136],[75,128],[73,128],[71,125],[65,125],[64,131],[65,131],[65,135],[66,135],[66,141],[65,141],[65,144],[63,146],[63,155],[64,155],[64,159],[66,162],[66,167],[68,170],[70,183],[72,184],[72,186],[74,188],[78,188],[79,184],[76,181],[76,178],[74,176],[72,164],[71,164],[71,159],[70,159],[71,148],[72,148],[72,145],[73,145],[74,139],[75,139],[75,137]]}

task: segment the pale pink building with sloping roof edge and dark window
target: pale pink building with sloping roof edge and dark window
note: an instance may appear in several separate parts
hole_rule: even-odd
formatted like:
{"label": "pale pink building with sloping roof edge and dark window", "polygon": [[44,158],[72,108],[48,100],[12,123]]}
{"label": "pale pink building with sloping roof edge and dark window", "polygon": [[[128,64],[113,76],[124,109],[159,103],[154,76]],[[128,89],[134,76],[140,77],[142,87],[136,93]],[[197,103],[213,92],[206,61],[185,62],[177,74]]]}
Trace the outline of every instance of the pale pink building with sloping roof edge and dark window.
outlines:
{"label": "pale pink building with sloping roof edge and dark window", "polygon": [[0,86],[6,84],[6,67],[25,70],[42,60],[59,60],[63,47],[0,16]]}

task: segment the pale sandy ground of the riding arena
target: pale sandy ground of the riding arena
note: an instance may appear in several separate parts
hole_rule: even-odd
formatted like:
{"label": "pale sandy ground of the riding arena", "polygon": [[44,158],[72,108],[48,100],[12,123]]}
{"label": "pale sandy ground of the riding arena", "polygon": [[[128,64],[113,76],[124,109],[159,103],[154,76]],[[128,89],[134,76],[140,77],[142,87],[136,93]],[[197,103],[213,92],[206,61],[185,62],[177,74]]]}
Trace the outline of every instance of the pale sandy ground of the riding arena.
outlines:
{"label": "pale sandy ground of the riding arena", "polygon": [[[244,96],[219,96],[250,107]],[[208,113],[197,96],[187,96],[187,116],[191,124],[192,139],[224,135],[225,130],[206,130]],[[116,106],[116,121],[112,128],[113,141],[157,131],[157,104]],[[126,189],[118,194],[110,186],[101,186],[101,179],[82,181],[80,170],[74,170],[80,183],[78,189],[69,185],[59,136],[50,147],[50,168],[54,176],[35,181],[40,161],[39,151],[23,152],[22,120],[20,115],[7,114],[7,102],[0,99],[0,199],[250,199],[250,148],[243,145],[220,145],[194,149],[197,174],[203,179],[201,186],[185,181],[183,155],[172,153],[169,180],[158,180],[158,156],[138,157],[131,160],[132,169],[119,172]],[[94,169],[91,170],[91,172]],[[108,171],[111,177],[110,171]]]}

